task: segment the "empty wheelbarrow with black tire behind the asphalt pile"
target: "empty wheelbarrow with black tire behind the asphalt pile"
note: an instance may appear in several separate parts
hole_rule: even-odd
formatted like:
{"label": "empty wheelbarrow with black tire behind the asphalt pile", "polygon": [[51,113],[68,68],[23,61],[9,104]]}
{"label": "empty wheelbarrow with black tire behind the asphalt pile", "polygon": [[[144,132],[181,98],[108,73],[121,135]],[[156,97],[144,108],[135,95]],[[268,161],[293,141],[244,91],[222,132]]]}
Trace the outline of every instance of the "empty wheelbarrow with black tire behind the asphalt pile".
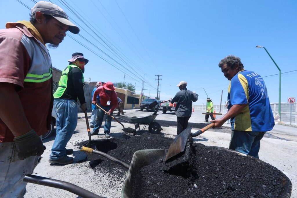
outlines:
{"label": "empty wheelbarrow with black tire behind the asphalt pile", "polygon": [[[129,120],[122,119],[120,117],[116,117],[117,119],[124,120],[125,122],[133,123],[135,126],[135,130],[144,131],[146,126],[149,125],[149,132],[154,134],[159,134],[163,129],[161,128],[161,125],[156,122],[157,117],[157,111],[154,112],[154,114],[151,114],[149,116],[133,116],[133,117],[127,117]],[[143,128],[140,130],[140,125],[143,124]]]}

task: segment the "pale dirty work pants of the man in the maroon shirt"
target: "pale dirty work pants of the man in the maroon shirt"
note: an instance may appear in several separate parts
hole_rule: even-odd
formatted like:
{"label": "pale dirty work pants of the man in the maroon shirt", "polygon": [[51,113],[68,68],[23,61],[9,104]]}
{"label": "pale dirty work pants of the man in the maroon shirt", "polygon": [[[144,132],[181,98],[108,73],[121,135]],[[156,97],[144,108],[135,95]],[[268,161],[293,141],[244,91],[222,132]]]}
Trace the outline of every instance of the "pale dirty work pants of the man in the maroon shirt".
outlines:
{"label": "pale dirty work pants of the man in the maroon shirt", "polygon": [[33,173],[39,158],[40,156],[30,156],[20,160],[15,142],[0,143],[0,197],[23,197],[27,185],[23,178],[26,174]]}

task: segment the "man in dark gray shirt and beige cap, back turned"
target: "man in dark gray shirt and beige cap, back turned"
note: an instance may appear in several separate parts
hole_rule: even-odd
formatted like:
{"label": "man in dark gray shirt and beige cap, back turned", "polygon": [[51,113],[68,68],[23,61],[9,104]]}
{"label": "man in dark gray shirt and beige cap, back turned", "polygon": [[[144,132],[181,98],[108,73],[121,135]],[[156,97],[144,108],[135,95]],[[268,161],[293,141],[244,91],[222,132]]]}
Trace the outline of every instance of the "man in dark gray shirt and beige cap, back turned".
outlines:
{"label": "man in dark gray shirt and beige cap, back turned", "polygon": [[176,93],[170,103],[176,103],[175,114],[177,116],[177,134],[188,127],[188,121],[192,115],[192,102],[198,100],[198,94],[186,88],[187,82],[181,81],[178,85],[179,92]]}

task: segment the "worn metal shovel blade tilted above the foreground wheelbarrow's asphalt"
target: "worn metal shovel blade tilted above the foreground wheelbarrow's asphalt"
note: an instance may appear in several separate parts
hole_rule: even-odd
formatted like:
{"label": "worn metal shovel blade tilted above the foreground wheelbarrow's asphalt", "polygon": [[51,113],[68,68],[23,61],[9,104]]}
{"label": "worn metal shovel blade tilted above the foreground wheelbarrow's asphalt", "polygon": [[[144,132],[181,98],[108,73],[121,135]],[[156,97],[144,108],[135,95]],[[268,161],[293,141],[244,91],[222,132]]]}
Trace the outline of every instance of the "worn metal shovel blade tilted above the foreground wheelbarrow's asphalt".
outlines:
{"label": "worn metal shovel blade tilted above the foreground wheelbarrow's asphalt", "polygon": [[182,131],[178,136],[176,136],[176,138],[170,144],[165,161],[185,150],[187,139],[191,130],[192,127],[188,127],[184,131]]}

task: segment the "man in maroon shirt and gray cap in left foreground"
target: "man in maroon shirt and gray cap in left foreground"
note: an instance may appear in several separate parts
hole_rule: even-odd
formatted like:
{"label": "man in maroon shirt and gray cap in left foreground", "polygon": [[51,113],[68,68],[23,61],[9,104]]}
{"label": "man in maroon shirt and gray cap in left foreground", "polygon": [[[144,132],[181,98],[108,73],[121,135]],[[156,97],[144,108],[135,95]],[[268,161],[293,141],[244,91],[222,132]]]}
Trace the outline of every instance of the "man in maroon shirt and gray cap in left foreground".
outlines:
{"label": "man in maroon shirt and gray cap in left foreground", "polygon": [[41,136],[53,108],[52,65],[45,44],[57,47],[66,31],[79,28],[57,5],[40,1],[30,21],[7,23],[0,30],[0,195],[23,197],[45,150]]}

